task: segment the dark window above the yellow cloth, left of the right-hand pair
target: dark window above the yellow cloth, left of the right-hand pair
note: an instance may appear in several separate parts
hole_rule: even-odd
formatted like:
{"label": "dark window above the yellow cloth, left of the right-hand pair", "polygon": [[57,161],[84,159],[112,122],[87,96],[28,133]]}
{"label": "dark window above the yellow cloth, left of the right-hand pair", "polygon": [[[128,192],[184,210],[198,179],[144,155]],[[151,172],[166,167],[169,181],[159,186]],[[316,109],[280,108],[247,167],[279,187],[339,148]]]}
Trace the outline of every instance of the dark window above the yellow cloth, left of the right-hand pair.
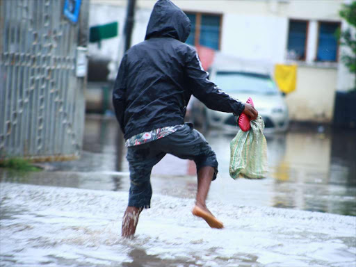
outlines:
{"label": "dark window above the yellow cloth, left of the right-hand pair", "polygon": [[302,20],[289,20],[288,55],[287,58],[305,60],[307,47],[308,22]]}

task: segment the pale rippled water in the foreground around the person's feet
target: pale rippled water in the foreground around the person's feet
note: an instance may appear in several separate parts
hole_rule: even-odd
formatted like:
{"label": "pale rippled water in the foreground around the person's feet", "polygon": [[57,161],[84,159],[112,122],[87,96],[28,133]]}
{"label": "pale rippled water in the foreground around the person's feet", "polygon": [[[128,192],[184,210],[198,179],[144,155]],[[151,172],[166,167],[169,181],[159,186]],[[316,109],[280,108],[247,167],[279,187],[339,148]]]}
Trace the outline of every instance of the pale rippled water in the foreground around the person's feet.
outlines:
{"label": "pale rippled water in the foreground around the person's feet", "polygon": [[1,183],[2,266],[354,266],[355,217],[156,195],[120,239],[127,193]]}

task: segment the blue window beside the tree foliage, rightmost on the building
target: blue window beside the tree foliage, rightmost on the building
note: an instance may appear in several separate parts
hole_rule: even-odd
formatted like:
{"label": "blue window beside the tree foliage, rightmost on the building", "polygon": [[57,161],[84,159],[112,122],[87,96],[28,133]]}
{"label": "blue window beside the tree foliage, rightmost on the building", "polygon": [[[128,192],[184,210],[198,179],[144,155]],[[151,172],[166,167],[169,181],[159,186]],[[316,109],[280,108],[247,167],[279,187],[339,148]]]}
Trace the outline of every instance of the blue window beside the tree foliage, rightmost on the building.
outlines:
{"label": "blue window beside the tree foliage, rightmost on the building", "polygon": [[317,61],[337,61],[339,41],[336,32],[339,27],[339,22],[319,22]]}

